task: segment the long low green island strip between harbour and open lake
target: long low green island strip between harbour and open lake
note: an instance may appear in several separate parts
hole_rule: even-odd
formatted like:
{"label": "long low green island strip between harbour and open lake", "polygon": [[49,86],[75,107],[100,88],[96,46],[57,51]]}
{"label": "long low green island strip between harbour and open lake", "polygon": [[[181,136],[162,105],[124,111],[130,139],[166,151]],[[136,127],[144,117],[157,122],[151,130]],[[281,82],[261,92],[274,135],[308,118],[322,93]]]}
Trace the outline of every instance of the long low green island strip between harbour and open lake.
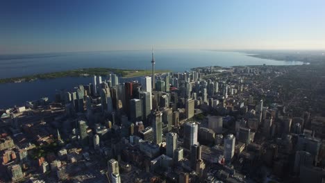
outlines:
{"label": "long low green island strip between harbour and open lake", "polygon": [[[169,70],[156,70],[156,73],[168,73]],[[0,84],[8,82],[32,82],[35,80],[64,78],[64,77],[90,77],[90,76],[107,76],[108,73],[115,73],[122,78],[133,78],[146,76],[148,71],[138,69],[113,69],[113,68],[87,68],[73,69],[69,71],[59,71],[53,73],[40,73],[30,76],[21,76],[15,78],[1,78]]]}

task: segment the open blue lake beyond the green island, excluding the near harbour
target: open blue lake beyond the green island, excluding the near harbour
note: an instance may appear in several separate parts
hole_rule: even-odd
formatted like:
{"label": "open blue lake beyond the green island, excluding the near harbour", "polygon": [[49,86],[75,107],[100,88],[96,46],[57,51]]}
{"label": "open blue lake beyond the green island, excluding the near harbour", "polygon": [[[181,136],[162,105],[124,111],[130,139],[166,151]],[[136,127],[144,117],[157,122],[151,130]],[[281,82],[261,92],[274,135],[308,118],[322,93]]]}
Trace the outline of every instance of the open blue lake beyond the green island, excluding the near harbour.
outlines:
{"label": "open blue lake beyond the green island, excluding the near harbour", "polygon": [[[184,71],[193,67],[235,65],[288,65],[287,62],[253,58],[245,53],[204,50],[158,50],[155,51],[156,69]],[[19,58],[19,59],[17,59]],[[151,51],[107,51],[92,53],[69,53],[56,55],[28,55],[8,59],[0,55],[0,78],[28,76],[80,68],[110,67],[115,69],[151,69]]]}

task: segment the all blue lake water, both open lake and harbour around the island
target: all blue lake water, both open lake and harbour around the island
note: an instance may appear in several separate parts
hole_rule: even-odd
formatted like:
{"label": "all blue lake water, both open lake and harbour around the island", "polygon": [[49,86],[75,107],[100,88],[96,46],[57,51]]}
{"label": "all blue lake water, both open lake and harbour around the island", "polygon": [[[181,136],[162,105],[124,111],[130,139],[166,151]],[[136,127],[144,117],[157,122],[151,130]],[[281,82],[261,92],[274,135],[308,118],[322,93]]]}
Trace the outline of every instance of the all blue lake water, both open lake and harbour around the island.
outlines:
{"label": "all blue lake water, both open lake and harbour around the island", "polygon": [[[181,72],[193,67],[236,65],[291,65],[286,62],[253,58],[245,53],[203,50],[155,51],[156,69]],[[49,73],[69,69],[111,67],[117,69],[151,69],[151,51],[108,51],[62,53],[51,55],[0,55],[0,78]],[[56,78],[34,82],[0,84],[0,108],[22,105],[42,97],[53,99],[56,89],[73,89],[88,84],[90,78]]]}

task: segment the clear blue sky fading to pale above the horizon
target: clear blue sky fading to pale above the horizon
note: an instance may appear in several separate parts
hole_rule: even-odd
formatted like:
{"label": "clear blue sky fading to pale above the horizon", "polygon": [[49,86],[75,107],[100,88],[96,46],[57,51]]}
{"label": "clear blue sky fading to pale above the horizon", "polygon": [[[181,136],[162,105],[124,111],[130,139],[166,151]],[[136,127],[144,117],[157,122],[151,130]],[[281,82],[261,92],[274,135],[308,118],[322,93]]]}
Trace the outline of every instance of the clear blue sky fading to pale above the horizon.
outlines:
{"label": "clear blue sky fading to pale above the horizon", "polygon": [[325,49],[324,0],[3,0],[0,54]]}

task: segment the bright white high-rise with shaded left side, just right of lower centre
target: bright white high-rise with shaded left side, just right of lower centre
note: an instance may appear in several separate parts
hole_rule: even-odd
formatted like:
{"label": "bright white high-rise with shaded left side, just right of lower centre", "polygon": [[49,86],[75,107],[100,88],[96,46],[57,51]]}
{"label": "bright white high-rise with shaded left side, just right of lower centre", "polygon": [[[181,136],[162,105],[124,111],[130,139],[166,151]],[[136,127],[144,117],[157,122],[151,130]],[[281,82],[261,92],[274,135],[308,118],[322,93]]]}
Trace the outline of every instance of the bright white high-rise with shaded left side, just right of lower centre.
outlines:
{"label": "bright white high-rise with shaded left side, just right of lower centre", "polygon": [[186,123],[184,128],[184,148],[190,149],[192,145],[198,144],[197,132],[199,131],[199,125],[197,123]]}

